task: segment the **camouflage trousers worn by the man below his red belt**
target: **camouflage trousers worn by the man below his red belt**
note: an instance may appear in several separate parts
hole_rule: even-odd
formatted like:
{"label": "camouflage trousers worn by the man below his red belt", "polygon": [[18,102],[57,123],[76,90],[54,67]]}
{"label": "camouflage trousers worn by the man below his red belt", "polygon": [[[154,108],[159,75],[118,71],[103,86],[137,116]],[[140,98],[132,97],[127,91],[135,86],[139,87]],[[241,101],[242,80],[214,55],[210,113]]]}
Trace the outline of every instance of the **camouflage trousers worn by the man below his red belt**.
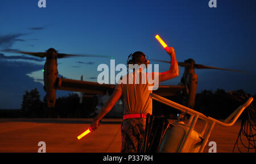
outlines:
{"label": "camouflage trousers worn by the man below his red belt", "polygon": [[138,153],[143,145],[146,118],[123,120],[121,153]]}

